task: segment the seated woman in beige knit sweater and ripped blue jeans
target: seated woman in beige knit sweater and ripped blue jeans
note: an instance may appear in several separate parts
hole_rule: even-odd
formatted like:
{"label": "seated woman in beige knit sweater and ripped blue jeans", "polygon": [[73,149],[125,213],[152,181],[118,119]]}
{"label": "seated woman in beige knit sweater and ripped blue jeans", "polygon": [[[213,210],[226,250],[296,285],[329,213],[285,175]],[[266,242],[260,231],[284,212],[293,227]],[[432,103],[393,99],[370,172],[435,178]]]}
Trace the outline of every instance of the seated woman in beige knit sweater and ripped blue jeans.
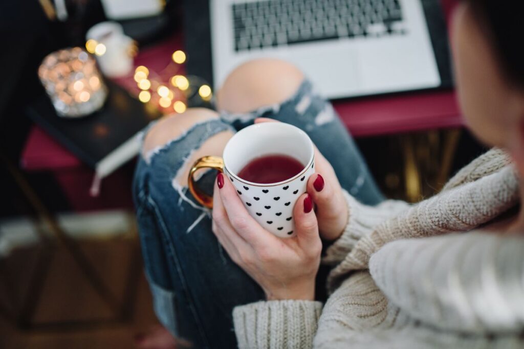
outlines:
{"label": "seated woman in beige knit sweater and ripped blue jeans", "polygon": [[[456,9],[464,116],[504,151],[482,155],[417,205],[383,200],[329,103],[287,63],[238,67],[217,95],[220,115],[194,109],[152,126],[134,193],[162,324],[195,347],[523,346],[521,7],[471,0]],[[261,228],[225,176],[200,179],[214,185],[212,216],[187,192],[194,159],[220,155],[256,117],[304,129],[320,151],[294,208],[294,239]]]}

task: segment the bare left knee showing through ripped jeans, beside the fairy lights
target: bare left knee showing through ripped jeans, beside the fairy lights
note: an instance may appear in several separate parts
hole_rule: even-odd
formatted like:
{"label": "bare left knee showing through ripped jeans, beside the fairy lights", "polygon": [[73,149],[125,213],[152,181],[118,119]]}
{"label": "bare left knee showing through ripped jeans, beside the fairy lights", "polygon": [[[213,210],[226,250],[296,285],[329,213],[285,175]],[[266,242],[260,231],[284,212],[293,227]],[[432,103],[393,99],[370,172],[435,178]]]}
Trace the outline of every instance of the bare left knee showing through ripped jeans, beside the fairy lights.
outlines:
{"label": "bare left knee showing through ripped jeans, beside the fairy lights", "polygon": [[172,139],[176,139],[195,123],[213,118],[218,118],[218,114],[205,108],[189,108],[183,114],[165,116],[147,133],[142,147],[143,155],[147,156],[152,150],[162,147]]}

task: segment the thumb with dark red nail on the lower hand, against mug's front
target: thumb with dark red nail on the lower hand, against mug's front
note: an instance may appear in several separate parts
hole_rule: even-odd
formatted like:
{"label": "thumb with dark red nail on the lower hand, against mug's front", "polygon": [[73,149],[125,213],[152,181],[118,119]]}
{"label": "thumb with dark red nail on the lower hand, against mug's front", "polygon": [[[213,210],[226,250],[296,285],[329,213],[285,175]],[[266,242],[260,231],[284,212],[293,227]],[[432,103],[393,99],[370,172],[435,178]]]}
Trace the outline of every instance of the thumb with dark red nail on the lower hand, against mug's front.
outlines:
{"label": "thumb with dark red nail on the lower hand, against mug's front", "polygon": [[316,247],[313,243],[320,242],[319,226],[313,211],[313,198],[308,194],[302,194],[293,209],[295,232],[304,250]]}

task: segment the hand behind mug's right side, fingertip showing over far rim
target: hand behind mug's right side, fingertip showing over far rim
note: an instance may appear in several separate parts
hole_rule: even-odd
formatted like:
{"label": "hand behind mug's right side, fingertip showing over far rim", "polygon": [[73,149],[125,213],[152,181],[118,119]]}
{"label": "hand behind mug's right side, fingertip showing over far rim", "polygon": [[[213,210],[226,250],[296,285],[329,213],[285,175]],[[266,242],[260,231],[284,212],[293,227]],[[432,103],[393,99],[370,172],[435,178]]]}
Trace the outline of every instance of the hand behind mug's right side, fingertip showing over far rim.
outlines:
{"label": "hand behind mug's right side, fingertip showing over far rim", "polygon": [[[258,122],[279,122],[269,118],[258,118]],[[315,147],[315,170],[308,179],[307,192],[316,205],[316,219],[319,222],[320,236],[328,241],[340,238],[347,225],[347,202],[342,194],[339,179],[333,167]]]}

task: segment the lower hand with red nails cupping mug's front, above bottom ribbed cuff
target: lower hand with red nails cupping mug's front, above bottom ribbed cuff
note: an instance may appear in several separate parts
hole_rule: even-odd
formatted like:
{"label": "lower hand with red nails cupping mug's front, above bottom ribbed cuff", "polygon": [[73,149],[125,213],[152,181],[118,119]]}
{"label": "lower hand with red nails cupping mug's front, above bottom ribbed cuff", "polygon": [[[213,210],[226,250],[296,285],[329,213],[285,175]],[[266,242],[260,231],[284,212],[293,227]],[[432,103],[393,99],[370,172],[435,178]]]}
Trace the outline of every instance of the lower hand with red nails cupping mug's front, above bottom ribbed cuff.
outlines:
{"label": "lower hand with red nails cupping mug's front, above bottom ribbed cuff", "polygon": [[297,200],[293,217],[296,237],[276,237],[249,215],[229,178],[217,175],[213,232],[233,262],[264,289],[268,300],[314,300],[322,243],[308,194]]}

